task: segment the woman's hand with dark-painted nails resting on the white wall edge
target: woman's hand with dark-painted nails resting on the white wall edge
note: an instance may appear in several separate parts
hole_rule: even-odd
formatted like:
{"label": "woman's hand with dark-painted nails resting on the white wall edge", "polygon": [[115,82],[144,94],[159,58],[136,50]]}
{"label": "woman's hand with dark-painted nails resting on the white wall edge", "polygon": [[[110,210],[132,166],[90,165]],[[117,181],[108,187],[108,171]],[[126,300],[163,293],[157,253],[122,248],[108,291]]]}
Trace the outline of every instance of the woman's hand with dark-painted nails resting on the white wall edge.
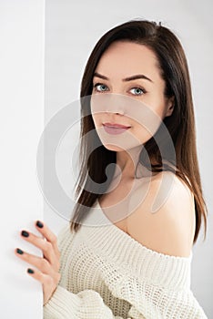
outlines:
{"label": "woman's hand with dark-painted nails resting on the white wall edge", "polygon": [[32,232],[26,231],[22,231],[20,234],[26,242],[30,242],[40,248],[43,252],[43,257],[23,252],[19,248],[15,249],[15,255],[37,268],[28,268],[27,273],[42,283],[44,304],[46,304],[55,293],[61,278],[60,273],[58,273],[60,269],[60,252],[57,247],[56,235],[43,222],[36,221],[35,228],[44,237],[35,236]]}

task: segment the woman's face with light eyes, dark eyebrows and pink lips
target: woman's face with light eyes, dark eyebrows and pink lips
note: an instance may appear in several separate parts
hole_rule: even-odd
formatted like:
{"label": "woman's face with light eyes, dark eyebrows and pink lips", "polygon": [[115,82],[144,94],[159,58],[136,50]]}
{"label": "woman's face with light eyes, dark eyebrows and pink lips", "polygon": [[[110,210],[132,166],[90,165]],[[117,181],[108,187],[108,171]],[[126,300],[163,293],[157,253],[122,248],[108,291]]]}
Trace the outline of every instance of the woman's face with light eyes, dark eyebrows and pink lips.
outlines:
{"label": "woman's face with light eyes, dark eyebrows and pink lips", "polygon": [[[100,58],[93,78],[91,112],[97,134],[106,149],[119,151],[119,145],[124,149],[125,144],[119,144],[119,139],[127,138],[128,132],[136,139],[135,142],[133,139],[129,139],[129,142],[125,139],[125,149],[141,145],[153,136],[142,124],[146,118],[144,106],[153,114],[152,123],[155,118],[161,121],[171,115],[173,101],[164,95],[165,81],[157,65],[157,57],[151,49],[127,41],[114,42]],[[103,99],[108,98],[109,93],[111,97],[117,97],[113,105]],[[117,95],[122,95],[126,101],[122,103]],[[102,107],[101,103],[97,105],[98,98],[104,101]],[[133,111],[131,101],[137,102],[137,112]],[[159,127],[159,121],[156,121],[154,131]],[[105,123],[121,124],[128,129],[107,129]]]}

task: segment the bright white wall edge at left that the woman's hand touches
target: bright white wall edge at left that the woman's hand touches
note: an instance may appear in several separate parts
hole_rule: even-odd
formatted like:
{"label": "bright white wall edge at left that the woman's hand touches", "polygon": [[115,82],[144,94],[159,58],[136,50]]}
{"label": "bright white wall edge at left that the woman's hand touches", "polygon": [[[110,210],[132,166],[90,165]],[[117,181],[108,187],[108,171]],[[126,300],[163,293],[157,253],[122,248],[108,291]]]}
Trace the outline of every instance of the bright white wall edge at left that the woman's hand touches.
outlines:
{"label": "bright white wall edge at left that the woman's hand touches", "polygon": [[[15,248],[40,255],[21,239],[43,219],[43,197],[36,177],[36,149],[44,129],[43,0],[0,1],[0,317],[42,318],[41,284]],[[36,232],[35,232],[36,233]]]}

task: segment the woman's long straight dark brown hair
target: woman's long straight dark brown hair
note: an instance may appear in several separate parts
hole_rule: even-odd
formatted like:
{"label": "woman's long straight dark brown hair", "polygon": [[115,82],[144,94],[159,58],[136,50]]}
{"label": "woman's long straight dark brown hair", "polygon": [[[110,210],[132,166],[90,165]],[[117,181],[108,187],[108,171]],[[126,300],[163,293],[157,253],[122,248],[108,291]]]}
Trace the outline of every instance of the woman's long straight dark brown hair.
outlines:
{"label": "woman's long straight dark brown hair", "polygon": [[[117,162],[117,152],[106,149],[100,142],[91,116],[90,100],[85,97],[92,94],[94,72],[100,57],[108,46],[119,40],[145,45],[156,54],[161,76],[166,84],[165,95],[174,97],[175,108],[172,115],[164,118],[163,122],[174,143],[176,174],[187,183],[195,199],[196,231],[193,243],[198,239],[202,217],[205,221],[206,239],[208,210],[202,194],[198,168],[195,117],[187,59],[177,36],[167,27],[161,26],[161,24],[157,25],[156,22],[140,19],[130,20],[106,32],[96,43],[86,64],[80,93],[80,138],[84,137],[84,139],[81,139],[80,142],[80,171],[76,180],[76,198],[78,197],[78,199],[70,221],[70,230],[71,232],[77,232],[86,214],[95,201],[101,197],[101,194],[105,193],[113,178],[114,170],[111,170],[106,178],[106,167],[110,163]],[[157,132],[159,130],[160,128]],[[89,131],[91,131],[91,134],[87,134]],[[92,150],[95,144],[99,147]],[[154,137],[144,144],[139,156],[139,162],[147,167],[145,151],[147,151],[151,162],[151,171],[162,171],[162,160],[171,162],[171,159],[161,158],[162,154],[159,154],[159,148]],[[169,167],[167,167],[167,170],[169,170]],[[100,184],[101,194],[100,191],[98,193],[94,190],[89,191],[92,190],[91,180]],[[85,187],[82,188],[82,185],[85,185]]]}

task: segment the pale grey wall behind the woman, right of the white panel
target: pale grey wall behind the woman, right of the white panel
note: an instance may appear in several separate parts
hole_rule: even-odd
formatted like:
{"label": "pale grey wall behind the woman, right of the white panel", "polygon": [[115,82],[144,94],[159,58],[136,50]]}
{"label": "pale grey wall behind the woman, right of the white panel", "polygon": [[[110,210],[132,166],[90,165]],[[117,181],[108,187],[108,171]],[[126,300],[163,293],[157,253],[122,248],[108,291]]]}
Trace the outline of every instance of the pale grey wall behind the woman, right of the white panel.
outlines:
{"label": "pale grey wall behind the woman, right of the white panel", "polygon": [[[198,242],[193,247],[192,290],[209,318],[213,317],[213,233],[210,232],[213,227],[213,154],[210,150],[213,121],[211,13],[210,0],[46,1],[46,123],[67,104],[75,106],[72,102],[79,97],[80,80],[86,60],[96,41],[109,28],[126,20],[141,17],[161,21],[180,38],[186,50],[191,74],[197,121],[198,159],[209,210],[207,240],[202,242],[201,232]],[[79,109],[74,107],[73,112],[77,115]],[[75,148],[77,132],[77,126],[67,132],[57,154],[59,179],[70,194],[75,179],[70,173],[67,152],[70,155],[71,150]],[[65,219],[47,204],[45,219],[55,232],[65,223]]]}

